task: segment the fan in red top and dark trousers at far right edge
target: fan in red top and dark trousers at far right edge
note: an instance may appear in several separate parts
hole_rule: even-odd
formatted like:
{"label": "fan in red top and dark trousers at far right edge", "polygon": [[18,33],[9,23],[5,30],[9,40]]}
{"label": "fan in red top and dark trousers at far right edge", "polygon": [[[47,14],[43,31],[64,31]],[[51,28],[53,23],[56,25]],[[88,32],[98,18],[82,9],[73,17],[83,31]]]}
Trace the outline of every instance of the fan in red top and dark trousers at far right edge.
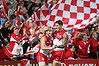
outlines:
{"label": "fan in red top and dark trousers at far right edge", "polygon": [[97,50],[99,46],[99,40],[97,39],[99,37],[99,34],[94,32],[92,33],[92,38],[90,38],[90,54],[89,58],[97,59]]}

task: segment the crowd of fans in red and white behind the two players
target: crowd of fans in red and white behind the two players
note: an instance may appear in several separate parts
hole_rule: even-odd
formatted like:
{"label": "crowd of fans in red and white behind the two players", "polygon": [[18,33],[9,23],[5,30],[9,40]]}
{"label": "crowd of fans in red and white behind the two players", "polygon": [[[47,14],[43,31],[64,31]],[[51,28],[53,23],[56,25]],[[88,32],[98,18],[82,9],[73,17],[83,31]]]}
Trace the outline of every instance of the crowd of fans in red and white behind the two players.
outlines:
{"label": "crowd of fans in red and white behind the two players", "polygon": [[[47,0],[7,0],[8,18],[0,6],[0,60],[36,59],[35,55],[22,56],[35,47],[48,26],[37,26],[26,20]],[[49,27],[53,39],[56,28]],[[99,58],[99,25],[92,24],[84,29],[66,31],[68,40],[65,46],[65,59],[98,59]],[[16,46],[18,45],[18,46]],[[52,45],[51,45],[52,46]]]}

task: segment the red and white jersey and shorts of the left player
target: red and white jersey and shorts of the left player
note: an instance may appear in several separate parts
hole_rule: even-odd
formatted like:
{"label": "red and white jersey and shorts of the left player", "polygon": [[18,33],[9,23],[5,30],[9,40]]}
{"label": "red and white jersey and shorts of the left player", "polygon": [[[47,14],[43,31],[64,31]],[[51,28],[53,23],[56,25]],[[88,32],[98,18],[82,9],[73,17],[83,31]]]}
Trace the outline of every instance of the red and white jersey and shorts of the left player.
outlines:
{"label": "red and white jersey and shorts of the left player", "polygon": [[[44,36],[46,38],[46,41],[45,41],[46,46],[51,46],[52,45],[51,38],[47,36],[46,34]],[[46,64],[48,64],[49,53],[50,53],[50,50],[42,50],[40,48],[40,51],[37,54],[37,62],[45,62]]]}

